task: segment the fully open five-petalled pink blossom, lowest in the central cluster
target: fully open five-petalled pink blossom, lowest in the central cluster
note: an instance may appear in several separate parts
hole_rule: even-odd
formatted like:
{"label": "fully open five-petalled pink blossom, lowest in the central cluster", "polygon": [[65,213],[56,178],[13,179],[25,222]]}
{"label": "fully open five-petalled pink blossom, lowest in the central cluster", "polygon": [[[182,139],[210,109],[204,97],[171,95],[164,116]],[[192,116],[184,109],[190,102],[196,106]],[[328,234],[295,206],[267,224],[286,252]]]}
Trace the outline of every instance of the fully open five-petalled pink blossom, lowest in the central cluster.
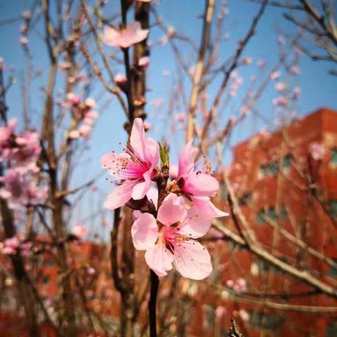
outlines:
{"label": "fully open five-petalled pink blossom, lowest in the central cluster", "polygon": [[159,207],[157,220],[143,213],[133,223],[133,245],[146,250],[146,263],[158,276],[167,275],[174,263],[183,277],[204,279],[213,270],[211,256],[194,239],[204,236],[211,222],[195,207],[187,211],[185,199],[171,193]]}

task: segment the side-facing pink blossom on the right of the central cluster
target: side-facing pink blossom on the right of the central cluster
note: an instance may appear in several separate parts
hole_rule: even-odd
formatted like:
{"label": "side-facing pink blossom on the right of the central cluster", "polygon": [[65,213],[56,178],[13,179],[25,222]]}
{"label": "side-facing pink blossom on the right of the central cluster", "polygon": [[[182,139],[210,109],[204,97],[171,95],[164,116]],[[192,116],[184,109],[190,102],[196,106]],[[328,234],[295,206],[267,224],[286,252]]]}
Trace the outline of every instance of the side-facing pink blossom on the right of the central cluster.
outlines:
{"label": "side-facing pink blossom on the right of the central cluster", "polygon": [[220,211],[214,206],[210,197],[214,197],[219,189],[219,183],[216,178],[212,177],[211,165],[205,164],[199,169],[196,168],[194,157],[197,154],[197,147],[192,146],[192,140],[188,142],[180,152],[178,164],[178,179],[171,184],[183,192],[187,199],[194,202],[199,209],[205,213],[213,214],[213,217],[227,216],[228,213]]}

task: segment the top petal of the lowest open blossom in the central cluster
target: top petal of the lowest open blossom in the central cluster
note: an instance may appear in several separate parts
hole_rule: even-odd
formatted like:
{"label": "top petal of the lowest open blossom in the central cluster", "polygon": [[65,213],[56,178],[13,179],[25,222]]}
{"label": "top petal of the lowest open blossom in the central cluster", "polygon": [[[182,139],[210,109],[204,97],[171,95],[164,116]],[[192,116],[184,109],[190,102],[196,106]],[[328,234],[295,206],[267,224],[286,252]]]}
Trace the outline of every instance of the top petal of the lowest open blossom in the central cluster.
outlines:
{"label": "top petal of the lowest open blossom in the central cluster", "polygon": [[157,220],[163,225],[169,226],[185,219],[186,216],[185,199],[170,193],[159,207]]}

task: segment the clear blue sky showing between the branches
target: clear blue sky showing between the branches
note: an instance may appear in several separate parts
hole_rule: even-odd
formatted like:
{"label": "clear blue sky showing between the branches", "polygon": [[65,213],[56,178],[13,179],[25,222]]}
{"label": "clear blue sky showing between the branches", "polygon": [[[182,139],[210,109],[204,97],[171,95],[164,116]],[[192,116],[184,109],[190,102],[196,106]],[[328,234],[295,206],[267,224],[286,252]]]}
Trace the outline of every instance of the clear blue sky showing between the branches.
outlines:
{"label": "clear blue sky showing between the branches", "polygon": [[[217,1],[219,4],[220,1]],[[0,22],[9,18],[20,17],[20,13],[26,8],[29,8],[30,1],[11,0],[0,1]],[[220,59],[224,59],[234,52],[234,48],[237,46],[237,41],[244,37],[248,29],[248,22],[251,22],[253,15],[258,11],[259,5],[254,4],[248,0],[229,0],[228,7],[230,10],[229,15],[225,18],[224,31],[230,36],[230,39],[223,42],[220,46]],[[204,0],[161,0],[161,4],[157,6],[157,11],[160,13],[166,24],[170,24],[175,27],[177,32],[183,32],[183,34],[192,37],[192,39],[199,43],[199,35],[201,28],[201,19],[199,15],[204,9]],[[110,0],[107,3],[106,11],[115,12],[119,10],[119,1]],[[244,55],[253,58],[253,63],[256,64],[256,60],[263,58],[267,61],[267,69],[270,69],[275,62],[277,62],[277,34],[282,32],[284,34],[293,34],[296,32],[295,27],[283,18],[282,13],[284,10],[279,8],[267,8],[265,15],[258,25],[256,36],[251,39],[249,46],[246,48]],[[153,20],[153,18],[152,18]],[[117,23],[117,22],[116,22]],[[16,82],[8,93],[8,107],[10,116],[17,116],[20,119],[22,111],[22,92],[21,92],[21,80],[22,73],[25,70],[25,57],[22,51],[18,39],[20,37],[21,22],[14,22],[8,25],[0,26],[0,57],[4,58],[6,65],[15,67]],[[35,123],[39,123],[40,111],[43,107],[43,95],[40,91],[41,86],[46,85],[47,71],[48,71],[48,59],[46,58],[46,50],[41,41],[39,34],[43,34],[43,27],[37,25],[37,34],[29,40],[29,48],[32,51],[32,63],[41,69],[41,77],[34,81],[30,91],[30,113],[32,120]],[[278,33],[277,33],[278,32]],[[150,40],[156,41],[161,37],[162,33],[155,27],[150,33]],[[193,64],[193,60],[190,58],[190,51],[187,48],[184,49],[183,44],[181,46],[181,53],[185,55],[186,60],[189,60],[190,64]],[[107,47],[107,51],[112,51]],[[333,77],[328,74],[331,69],[336,70],[336,65],[328,62],[313,62],[306,55],[300,56],[300,76],[293,79],[295,83],[300,86],[302,95],[297,105],[297,112],[300,116],[308,114],[318,107],[326,106],[333,109],[337,109],[337,94],[336,84],[337,77]],[[117,67],[118,68],[118,67]],[[121,72],[122,68],[116,69],[116,72]],[[169,76],[164,76],[163,72],[167,72]],[[242,90],[249,86],[250,77],[256,74],[257,66],[251,65],[239,69],[239,74],[244,79],[244,85]],[[166,46],[157,46],[152,49],[151,62],[148,74],[148,87],[149,93],[147,95],[148,102],[161,98],[164,101],[164,107],[161,113],[165,116],[166,105],[173,88],[173,84],[176,83],[176,62],[173,58],[173,53],[169,44]],[[60,80],[60,84],[62,81]],[[209,89],[210,102],[212,101],[214,93],[218,88],[219,81],[216,81]],[[187,97],[189,95],[190,84],[187,83]],[[100,95],[101,88],[94,88],[93,97],[96,98]],[[267,119],[275,119],[274,110],[272,106],[272,99],[275,98],[275,90],[273,86],[267,88],[263,93],[263,96],[258,101],[256,108]],[[225,125],[227,118],[230,115],[238,115],[241,105],[240,94],[237,98],[233,98],[229,105],[224,110],[220,111],[219,124]],[[152,116],[153,107],[151,104],[147,105],[150,117]],[[74,185],[79,181],[84,182],[86,179],[95,176],[100,172],[100,157],[106,152],[111,150],[118,150],[118,143],[122,141],[125,143],[126,135],[121,127],[124,124],[125,117],[122,114],[117,100],[112,99],[107,111],[100,117],[98,125],[93,132],[93,138],[89,143],[90,147],[86,150],[85,159],[79,162],[76,178],[74,179]],[[154,119],[150,118],[150,123],[154,126],[154,130],[150,133],[157,139],[163,137],[169,137],[170,140],[174,140],[175,150],[173,156],[178,153],[178,148],[183,145],[182,134],[177,136],[169,135],[169,131],[166,127],[166,121],[161,120],[159,117]],[[238,126],[233,133],[231,145],[244,140],[251,136],[252,133],[258,132],[263,127],[263,122],[256,117],[249,117],[246,121]],[[226,148],[225,158],[227,162],[230,161],[231,149]],[[176,159],[173,159],[175,161]],[[79,178],[80,177],[80,178]],[[106,188],[105,182],[101,182],[100,186],[109,190],[110,186]],[[96,201],[95,201],[96,202]],[[99,203],[100,200],[97,201]]]}

